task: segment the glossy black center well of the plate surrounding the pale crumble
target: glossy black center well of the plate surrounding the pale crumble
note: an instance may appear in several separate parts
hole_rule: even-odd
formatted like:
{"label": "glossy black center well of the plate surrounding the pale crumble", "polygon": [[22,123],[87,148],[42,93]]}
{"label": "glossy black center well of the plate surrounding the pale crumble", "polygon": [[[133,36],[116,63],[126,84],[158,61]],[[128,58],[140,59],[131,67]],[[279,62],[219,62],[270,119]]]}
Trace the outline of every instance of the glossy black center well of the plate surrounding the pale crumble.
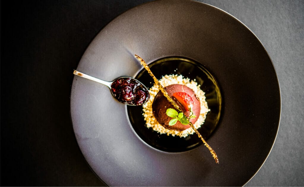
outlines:
{"label": "glossy black center well of the plate surrounding the pale crumble", "polygon": [[[161,78],[166,74],[181,74],[190,80],[196,80],[198,85],[201,85],[202,91],[206,94],[206,101],[210,112],[207,114],[204,125],[198,130],[204,139],[207,140],[219,122],[222,104],[219,85],[215,78],[198,62],[181,57],[169,57],[157,60],[152,62],[149,68],[157,78]],[[153,79],[145,70],[140,71],[135,78],[148,88],[153,86]],[[142,106],[127,107],[130,122],[135,132],[150,146],[162,151],[181,152],[191,150],[202,144],[202,140],[196,134],[181,138],[159,134],[151,128],[148,129],[144,125],[145,121],[141,115],[143,113],[142,109]]]}

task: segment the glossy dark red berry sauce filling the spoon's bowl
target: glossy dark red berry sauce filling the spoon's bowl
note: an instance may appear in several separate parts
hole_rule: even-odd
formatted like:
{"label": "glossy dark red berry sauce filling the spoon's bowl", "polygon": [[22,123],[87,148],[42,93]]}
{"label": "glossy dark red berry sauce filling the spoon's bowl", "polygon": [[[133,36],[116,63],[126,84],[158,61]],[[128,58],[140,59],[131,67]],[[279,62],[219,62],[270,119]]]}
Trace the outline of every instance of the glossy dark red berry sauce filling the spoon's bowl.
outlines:
{"label": "glossy dark red berry sauce filling the spoon's bowl", "polygon": [[142,105],[150,98],[146,87],[139,81],[122,77],[111,84],[111,91],[114,97],[119,101],[129,105]]}

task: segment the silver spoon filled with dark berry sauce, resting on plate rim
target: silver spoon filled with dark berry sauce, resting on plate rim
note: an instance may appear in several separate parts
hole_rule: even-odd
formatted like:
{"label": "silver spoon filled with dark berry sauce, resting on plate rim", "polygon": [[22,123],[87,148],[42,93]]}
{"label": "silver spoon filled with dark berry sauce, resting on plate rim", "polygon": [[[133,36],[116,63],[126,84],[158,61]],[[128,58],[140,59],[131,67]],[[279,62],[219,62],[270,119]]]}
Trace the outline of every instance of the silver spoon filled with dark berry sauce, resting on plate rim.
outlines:
{"label": "silver spoon filled with dark berry sauce, resting on plate rim", "polygon": [[73,74],[106,85],[110,88],[114,98],[126,105],[140,106],[150,98],[148,89],[140,81],[131,77],[120,77],[108,82],[77,70],[74,70]]}

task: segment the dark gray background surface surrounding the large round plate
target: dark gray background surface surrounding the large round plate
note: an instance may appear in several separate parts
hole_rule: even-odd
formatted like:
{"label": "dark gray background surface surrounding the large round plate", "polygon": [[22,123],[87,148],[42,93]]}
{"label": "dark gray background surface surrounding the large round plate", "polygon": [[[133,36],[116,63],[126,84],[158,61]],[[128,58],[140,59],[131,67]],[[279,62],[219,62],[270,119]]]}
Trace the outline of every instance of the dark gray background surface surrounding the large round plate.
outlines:
{"label": "dark gray background surface surrounding the large round plate", "polygon": [[[136,1],[1,2],[1,186],[102,186],[74,137],[73,75],[94,36]],[[304,1],[201,1],[243,22],[268,51],[282,115],[247,186],[304,186]]]}

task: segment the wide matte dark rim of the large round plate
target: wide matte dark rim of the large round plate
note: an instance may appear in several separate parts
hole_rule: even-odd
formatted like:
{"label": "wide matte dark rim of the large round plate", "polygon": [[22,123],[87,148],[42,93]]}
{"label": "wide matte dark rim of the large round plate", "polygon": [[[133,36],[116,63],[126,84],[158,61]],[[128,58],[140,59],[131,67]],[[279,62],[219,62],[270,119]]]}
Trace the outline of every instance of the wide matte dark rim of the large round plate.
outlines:
{"label": "wide matte dark rim of the large round plate", "polygon": [[[150,2],[105,26],[77,70],[107,81],[137,76],[148,82],[134,54],[150,65],[167,57],[191,59],[197,66],[189,74],[185,68],[177,73],[193,77],[196,72],[206,78],[196,69],[201,68],[212,75],[221,109],[215,112],[219,119],[210,122],[217,126],[205,137],[219,164],[195,140],[182,141],[181,146],[168,140],[172,147],[163,139],[153,142],[135,126],[140,112],[136,115],[113,99],[106,86],[74,77],[71,119],[79,147],[96,175],[110,186],[240,186],[249,181],[271,151],[281,113],[275,69],[257,37],[210,5]],[[158,76],[166,73],[154,71]],[[203,88],[208,80],[202,81]]]}

